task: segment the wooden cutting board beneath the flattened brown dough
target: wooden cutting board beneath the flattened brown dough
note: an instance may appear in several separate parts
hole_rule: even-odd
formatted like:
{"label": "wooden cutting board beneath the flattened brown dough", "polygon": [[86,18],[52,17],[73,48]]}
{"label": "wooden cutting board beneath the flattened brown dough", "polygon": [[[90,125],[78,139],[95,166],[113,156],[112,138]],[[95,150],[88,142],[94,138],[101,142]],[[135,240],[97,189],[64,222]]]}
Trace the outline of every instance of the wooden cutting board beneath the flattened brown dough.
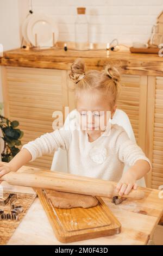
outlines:
{"label": "wooden cutting board beneath the flattened brown dough", "polygon": [[121,232],[121,223],[109,210],[101,197],[92,208],[55,208],[45,190],[37,190],[40,202],[60,242],[75,242]]}

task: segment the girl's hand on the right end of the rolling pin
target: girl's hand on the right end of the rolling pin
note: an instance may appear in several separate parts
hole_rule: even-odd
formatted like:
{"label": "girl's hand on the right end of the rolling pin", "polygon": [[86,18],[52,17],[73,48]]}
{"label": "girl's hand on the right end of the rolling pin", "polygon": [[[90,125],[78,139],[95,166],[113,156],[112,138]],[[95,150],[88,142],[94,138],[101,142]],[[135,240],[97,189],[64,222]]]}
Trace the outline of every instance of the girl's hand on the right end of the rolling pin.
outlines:
{"label": "girl's hand on the right end of the rolling pin", "polygon": [[129,194],[132,188],[136,190],[137,184],[134,173],[129,169],[123,173],[122,178],[117,184],[116,191],[120,196],[123,196],[123,194]]}

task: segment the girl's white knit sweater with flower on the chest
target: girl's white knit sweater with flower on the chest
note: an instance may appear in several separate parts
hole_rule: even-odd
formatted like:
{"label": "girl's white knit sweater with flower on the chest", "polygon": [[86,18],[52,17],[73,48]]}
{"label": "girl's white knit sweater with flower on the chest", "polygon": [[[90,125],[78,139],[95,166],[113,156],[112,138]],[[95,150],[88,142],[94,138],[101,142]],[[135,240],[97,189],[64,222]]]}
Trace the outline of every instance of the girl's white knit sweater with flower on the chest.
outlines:
{"label": "girl's white knit sweater with flower on the chest", "polygon": [[110,136],[105,135],[103,133],[96,141],[89,142],[86,131],[62,127],[28,142],[22,149],[30,152],[31,162],[60,147],[67,151],[69,173],[104,180],[119,181],[124,164],[133,166],[140,159],[151,166],[142,149],[129,139],[123,127],[111,124]]}

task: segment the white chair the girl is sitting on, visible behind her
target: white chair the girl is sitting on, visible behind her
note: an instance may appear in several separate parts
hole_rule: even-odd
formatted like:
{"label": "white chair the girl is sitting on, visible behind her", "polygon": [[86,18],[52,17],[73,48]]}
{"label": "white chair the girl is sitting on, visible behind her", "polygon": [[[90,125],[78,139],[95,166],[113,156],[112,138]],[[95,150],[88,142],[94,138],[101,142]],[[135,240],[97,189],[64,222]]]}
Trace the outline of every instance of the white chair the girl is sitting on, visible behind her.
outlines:
{"label": "white chair the girl is sitting on, visible behind her", "polygon": [[[69,124],[69,118],[73,118],[76,114],[77,110],[73,109],[68,115],[65,120],[64,126],[68,127]],[[114,114],[114,117],[111,119],[112,124],[118,124],[126,130],[129,138],[131,141],[136,142],[134,132],[132,129],[132,126],[130,124],[130,120],[128,118],[128,115],[122,111],[121,109],[116,109],[116,112]],[[130,166],[125,165],[123,172],[126,172]],[[66,150],[58,148],[57,151],[54,153],[53,161],[51,170],[55,170],[58,172],[67,172],[67,153]],[[145,178],[141,178],[140,180],[137,180],[137,185],[141,187],[146,187]]]}

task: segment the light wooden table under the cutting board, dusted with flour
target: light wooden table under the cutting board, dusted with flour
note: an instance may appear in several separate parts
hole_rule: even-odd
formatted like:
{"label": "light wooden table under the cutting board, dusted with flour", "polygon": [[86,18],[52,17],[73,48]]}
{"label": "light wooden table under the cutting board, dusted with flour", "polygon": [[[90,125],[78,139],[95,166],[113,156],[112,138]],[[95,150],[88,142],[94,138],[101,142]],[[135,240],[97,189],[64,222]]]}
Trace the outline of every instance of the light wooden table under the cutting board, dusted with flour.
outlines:
{"label": "light wooden table under the cutting board, dusted with flour", "polygon": [[[32,188],[12,186],[7,182],[2,182],[2,185],[13,192],[34,192]],[[120,205],[103,198],[122,224],[120,234],[66,244],[56,239],[39,198],[36,198],[8,245],[146,245],[162,216],[163,199],[159,198],[158,190],[145,188],[145,193],[145,199],[127,199]]]}

